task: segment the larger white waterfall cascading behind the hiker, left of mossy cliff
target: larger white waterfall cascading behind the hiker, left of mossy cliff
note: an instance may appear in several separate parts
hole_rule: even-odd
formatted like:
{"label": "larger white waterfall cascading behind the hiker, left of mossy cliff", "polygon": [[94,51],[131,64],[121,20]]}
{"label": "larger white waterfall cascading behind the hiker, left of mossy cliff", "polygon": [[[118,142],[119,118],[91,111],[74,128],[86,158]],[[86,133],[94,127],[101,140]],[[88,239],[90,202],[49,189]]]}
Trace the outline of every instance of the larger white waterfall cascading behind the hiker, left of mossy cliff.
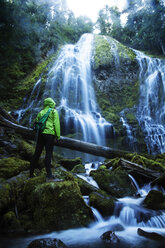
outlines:
{"label": "larger white waterfall cascading behind the hiker, left of mossy cliff", "polygon": [[[62,120],[64,134],[73,134],[74,138],[106,145],[106,130],[111,130],[108,123],[99,113],[91,80],[93,35],[84,34],[76,45],[66,45],[48,73],[42,99],[52,97],[58,104],[57,110]],[[41,107],[38,101],[36,87],[31,93],[30,100],[21,110],[35,110]],[[32,95],[36,95],[31,101]],[[19,116],[21,116],[19,111]],[[32,120],[30,115],[30,123]]]}

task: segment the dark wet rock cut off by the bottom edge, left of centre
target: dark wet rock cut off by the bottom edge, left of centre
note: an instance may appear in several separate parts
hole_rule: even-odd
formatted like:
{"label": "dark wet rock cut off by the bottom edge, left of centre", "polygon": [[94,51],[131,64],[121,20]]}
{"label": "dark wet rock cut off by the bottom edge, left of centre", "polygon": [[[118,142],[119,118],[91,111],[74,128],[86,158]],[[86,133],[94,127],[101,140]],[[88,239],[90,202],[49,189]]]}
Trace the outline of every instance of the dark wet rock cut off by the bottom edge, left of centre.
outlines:
{"label": "dark wet rock cut off by the bottom edge, left of centre", "polygon": [[67,246],[59,239],[36,239],[33,240],[27,248],[67,248]]}

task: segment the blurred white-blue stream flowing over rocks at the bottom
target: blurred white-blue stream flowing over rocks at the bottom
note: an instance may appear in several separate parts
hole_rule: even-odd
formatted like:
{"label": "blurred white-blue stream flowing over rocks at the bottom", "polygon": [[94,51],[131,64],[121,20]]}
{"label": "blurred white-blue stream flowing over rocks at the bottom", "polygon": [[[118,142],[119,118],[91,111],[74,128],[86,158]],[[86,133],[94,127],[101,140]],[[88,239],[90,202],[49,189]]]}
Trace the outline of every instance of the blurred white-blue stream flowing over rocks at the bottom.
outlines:
{"label": "blurred white-blue stream flowing over rocks at the bottom", "polygon": [[[90,177],[90,171],[96,170],[100,162],[88,163],[85,165],[86,174],[77,175],[88,183],[98,187],[97,183]],[[147,232],[156,232],[165,236],[165,211],[154,211],[142,206],[142,202],[151,190],[150,184],[139,187],[136,180],[130,175],[132,183],[136,186],[137,196],[117,199],[112,216],[103,218],[97,209],[91,207],[95,221],[88,227],[61,230],[42,235],[31,235],[12,237],[12,235],[1,237],[3,248],[25,248],[31,241],[40,238],[60,239],[70,248],[163,248],[164,244],[158,241],[149,240],[137,234],[137,229],[142,228]],[[152,188],[153,189],[153,188]],[[156,189],[156,188],[154,188]],[[163,190],[163,189],[162,189]],[[88,196],[84,200],[89,204]],[[105,244],[100,236],[112,230],[120,239],[119,243]]]}

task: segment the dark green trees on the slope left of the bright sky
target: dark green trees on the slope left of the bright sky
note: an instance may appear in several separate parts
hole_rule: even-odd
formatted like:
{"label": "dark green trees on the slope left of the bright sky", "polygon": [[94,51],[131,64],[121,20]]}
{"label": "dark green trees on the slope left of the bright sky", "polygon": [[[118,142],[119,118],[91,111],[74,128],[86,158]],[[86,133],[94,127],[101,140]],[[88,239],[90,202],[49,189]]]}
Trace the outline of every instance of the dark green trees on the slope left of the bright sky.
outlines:
{"label": "dark green trees on the slope left of the bright sky", "polygon": [[64,0],[2,0],[0,16],[2,102],[18,94],[18,84],[37,64],[93,27],[89,18],[75,18]]}

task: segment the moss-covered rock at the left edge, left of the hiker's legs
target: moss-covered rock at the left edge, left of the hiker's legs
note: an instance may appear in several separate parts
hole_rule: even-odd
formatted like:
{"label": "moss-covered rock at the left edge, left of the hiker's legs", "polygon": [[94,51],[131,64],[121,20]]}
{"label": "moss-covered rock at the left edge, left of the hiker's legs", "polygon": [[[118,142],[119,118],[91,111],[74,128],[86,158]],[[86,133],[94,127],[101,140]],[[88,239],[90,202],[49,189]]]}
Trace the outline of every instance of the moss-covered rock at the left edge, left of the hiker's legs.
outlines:
{"label": "moss-covered rock at the left edge, left of the hiker's legs", "polygon": [[0,177],[10,178],[28,170],[30,163],[19,158],[10,157],[0,160]]}

